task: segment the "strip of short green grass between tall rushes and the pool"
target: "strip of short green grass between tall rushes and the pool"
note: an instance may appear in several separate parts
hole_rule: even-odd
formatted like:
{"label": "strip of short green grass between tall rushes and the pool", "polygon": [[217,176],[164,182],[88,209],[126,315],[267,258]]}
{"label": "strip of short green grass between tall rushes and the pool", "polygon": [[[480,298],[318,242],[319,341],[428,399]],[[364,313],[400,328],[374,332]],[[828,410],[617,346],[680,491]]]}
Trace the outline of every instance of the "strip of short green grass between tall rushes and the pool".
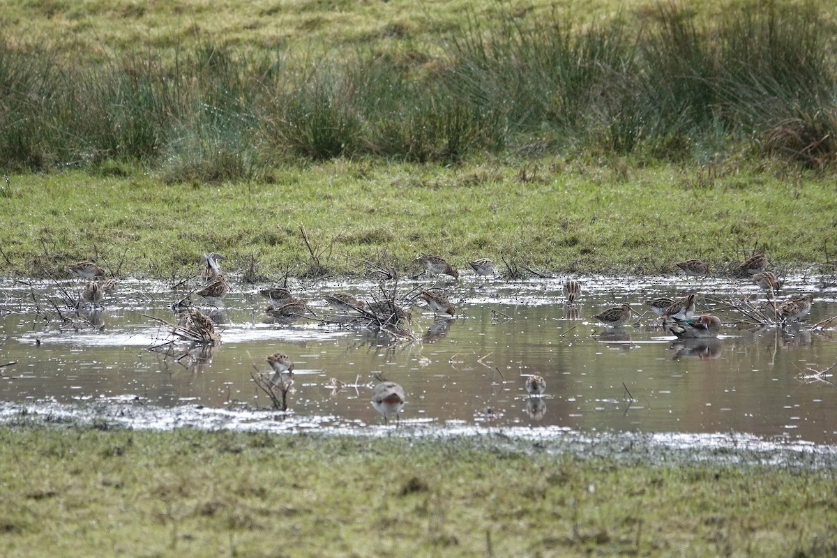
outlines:
{"label": "strip of short green grass between tall rushes and the pool", "polygon": [[665,274],[702,258],[722,272],[756,246],[782,272],[837,249],[834,176],[781,161],[337,160],[277,168],[270,182],[66,171],[0,186],[0,273],[36,277],[68,277],[64,265],[95,259],[116,277],[174,278],[196,273],[210,251],[229,258],[234,283],[304,276],[314,262],[300,223],[328,274],[370,275],[366,260],[414,274],[421,251],[460,268],[487,257],[501,268],[505,258],[561,273]]}

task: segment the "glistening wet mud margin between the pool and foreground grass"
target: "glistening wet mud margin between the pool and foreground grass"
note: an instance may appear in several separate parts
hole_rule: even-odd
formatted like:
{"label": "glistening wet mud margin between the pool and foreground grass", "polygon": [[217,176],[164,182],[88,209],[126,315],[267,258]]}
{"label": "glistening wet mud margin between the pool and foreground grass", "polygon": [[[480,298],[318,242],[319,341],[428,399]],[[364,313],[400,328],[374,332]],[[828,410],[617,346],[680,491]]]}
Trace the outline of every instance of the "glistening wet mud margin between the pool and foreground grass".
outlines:
{"label": "glistening wet mud margin between the pool and foreground grass", "polygon": [[[331,426],[324,422],[332,421]],[[338,426],[334,417],[295,417],[254,409],[144,407],[133,402],[114,405],[0,403],[0,424],[11,429],[65,428],[100,431],[193,429],[267,433],[276,437],[305,436],[354,440],[413,438],[483,451],[569,454],[603,458],[624,465],[732,465],[791,468],[835,468],[837,446],[768,439],[744,433],[584,433],[565,427],[445,426],[405,422],[358,428]]]}

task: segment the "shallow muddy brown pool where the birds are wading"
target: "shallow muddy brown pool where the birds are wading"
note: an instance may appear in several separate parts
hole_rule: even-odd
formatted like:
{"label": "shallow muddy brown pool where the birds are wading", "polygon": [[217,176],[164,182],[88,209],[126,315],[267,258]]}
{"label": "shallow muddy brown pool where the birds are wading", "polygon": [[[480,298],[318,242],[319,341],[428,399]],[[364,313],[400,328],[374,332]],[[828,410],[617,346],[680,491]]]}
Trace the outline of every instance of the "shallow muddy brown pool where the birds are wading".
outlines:
{"label": "shallow muddy brown pool where the birds are wading", "polygon": [[[184,292],[166,284],[123,281],[95,313],[74,315],[64,299],[75,281],[6,281],[0,299],[0,402],[38,408],[112,402],[155,412],[184,408],[264,409],[270,401],[251,373],[282,351],[295,362],[289,413],[253,412],[248,420],[306,427],[381,424],[369,404],[375,376],[403,385],[402,423],[427,426],[562,427],[582,432],[749,433],[811,443],[837,443],[837,387],[812,376],[837,362],[837,334],[812,330],[837,315],[837,290],[795,278],[780,298],[813,293],[801,325],[785,329],[727,326],[717,340],[674,341],[646,314],[639,325],[606,328],[593,315],[627,301],[701,294],[698,311],[729,324],[742,319],[730,296],[764,299],[757,287],[728,280],[579,278],[581,303],[563,304],[561,280],[449,284],[455,320],[436,320],[423,302],[413,308],[415,338],[341,329],[315,320],[278,325],[264,315],[255,287],[234,283],[218,309],[203,308],[221,331],[220,346],[201,350],[168,339],[172,302]],[[419,285],[404,283],[406,293]],[[293,286],[293,285],[292,285]],[[334,316],[323,297],[346,290],[368,298],[375,284],[295,285],[317,315]],[[59,319],[58,310],[65,318]],[[547,381],[528,397],[526,377]],[[332,381],[332,379],[334,381]],[[335,381],[344,387],[336,389]]]}

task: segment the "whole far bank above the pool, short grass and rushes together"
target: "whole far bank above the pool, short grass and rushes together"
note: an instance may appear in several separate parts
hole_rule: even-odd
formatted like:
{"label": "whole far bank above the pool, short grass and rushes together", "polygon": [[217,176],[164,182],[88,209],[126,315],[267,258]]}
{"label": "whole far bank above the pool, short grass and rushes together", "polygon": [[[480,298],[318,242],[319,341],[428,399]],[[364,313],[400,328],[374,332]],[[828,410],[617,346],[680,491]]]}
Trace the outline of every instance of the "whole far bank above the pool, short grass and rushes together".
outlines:
{"label": "whole far bank above the pool, short grass and rushes together", "polygon": [[831,3],[0,4],[2,274],[834,255]]}

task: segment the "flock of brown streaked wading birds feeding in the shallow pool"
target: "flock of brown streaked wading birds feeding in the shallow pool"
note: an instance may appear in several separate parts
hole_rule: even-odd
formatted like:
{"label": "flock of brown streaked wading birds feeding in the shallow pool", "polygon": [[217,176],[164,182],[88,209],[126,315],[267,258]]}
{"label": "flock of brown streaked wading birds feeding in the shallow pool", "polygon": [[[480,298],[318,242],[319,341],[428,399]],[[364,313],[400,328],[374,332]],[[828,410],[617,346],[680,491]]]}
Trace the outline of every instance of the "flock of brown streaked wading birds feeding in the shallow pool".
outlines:
{"label": "flock of brown streaked wading birds feeding in the shallow pool", "polygon": [[[203,287],[194,291],[210,305],[218,304],[229,291],[229,285],[221,273],[218,259],[225,260],[226,258],[214,252],[203,254],[202,264],[205,264],[201,269]],[[422,253],[416,260],[424,263],[431,274],[449,275],[454,279],[459,279],[459,272],[441,256]],[[490,259],[476,259],[468,262],[468,265],[479,277],[487,279],[488,276],[497,274],[494,262]],[[711,275],[709,264],[700,259],[689,259],[676,265],[684,271],[686,277],[706,278],[706,276]],[[759,250],[742,262],[738,266],[738,271],[752,277],[752,280],[762,289],[775,294],[782,284],[775,274],[766,271],[767,267],[768,258],[763,251]],[[116,279],[99,279],[104,278],[105,270],[92,262],[79,262],[78,264],[68,265],[67,268],[74,271],[82,279],[90,279],[81,294],[81,300],[88,305],[100,304],[105,294],[109,294],[116,288]],[[563,285],[563,293],[567,297],[567,304],[573,305],[581,297],[581,284],[575,279],[569,279]],[[285,287],[262,289],[259,294],[270,300],[270,305],[265,313],[272,318],[283,320],[285,323],[291,323],[311,312],[306,299],[295,298],[290,290]],[[424,289],[419,297],[427,303],[434,314],[455,315],[454,305],[450,304],[444,291]],[[660,317],[667,330],[681,339],[716,337],[721,331],[721,320],[715,315],[708,314],[695,317],[695,300],[696,295],[692,293],[680,299],[670,299],[668,297],[650,299],[645,301],[644,304]],[[811,294],[787,299],[778,305],[777,316],[783,324],[798,321],[809,313],[813,301],[814,297]],[[398,325],[403,321],[408,322],[412,319],[408,310],[404,310],[389,299],[366,302],[349,293],[336,293],[326,296],[326,302],[334,306],[336,310],[356,312],[372,319],[377,325]],[[609,327],[620,327],[627,324],[634,313],[635,311],[629,304],[622,304],[603,310],[603,312],[593,317]],[[214,331],[212,320],[199,310],[192,308],[180,313],[175,330],[178,334],[190,340],[201,340],[208,343],[215,343],[219,340]],[[293,382],[294,363],[285,353],[270,355],[267,357],[267,361],[274,371],[274,376],[270,378],[270,384],[287,392]],[[544,381],[542,376],[535,374],[526,378],[526,392],[530,394],[530,397],[540,397],[546,389],[547,382]],[[403,387],[394,381],[382,381],[372,391],[372,407],[383,415],[384,422],[387,422],[391,415],[398,418],[398,412],[401,411],[405,402]]]}

